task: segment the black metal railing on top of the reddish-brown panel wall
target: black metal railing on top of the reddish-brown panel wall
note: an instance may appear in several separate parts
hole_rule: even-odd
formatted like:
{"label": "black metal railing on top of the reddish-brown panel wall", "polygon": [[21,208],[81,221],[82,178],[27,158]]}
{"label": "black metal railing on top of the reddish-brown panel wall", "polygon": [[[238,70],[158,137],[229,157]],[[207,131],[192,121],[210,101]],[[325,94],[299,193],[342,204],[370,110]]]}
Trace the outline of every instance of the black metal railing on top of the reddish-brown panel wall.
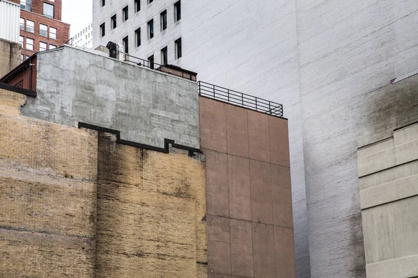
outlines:
{"label": "black metal railing on top of the reddish-brown panel wall", "polygon": [[268,115],[283,117],[283,106],[273,101],[199,81],[199,95],[249,108]]}

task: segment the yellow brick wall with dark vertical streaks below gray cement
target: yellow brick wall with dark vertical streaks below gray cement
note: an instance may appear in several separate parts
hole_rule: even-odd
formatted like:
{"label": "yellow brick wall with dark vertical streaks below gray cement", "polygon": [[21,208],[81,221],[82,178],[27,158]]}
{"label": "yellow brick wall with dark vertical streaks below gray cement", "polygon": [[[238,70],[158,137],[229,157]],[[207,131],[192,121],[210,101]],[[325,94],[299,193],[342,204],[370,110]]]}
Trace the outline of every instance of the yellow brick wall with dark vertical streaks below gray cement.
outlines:
{"label": "yellow brick wall with dark vertical streaks below gray cement", "polygon": [[0,277],[207,277],[201,157],[20,116],[0,90]]}

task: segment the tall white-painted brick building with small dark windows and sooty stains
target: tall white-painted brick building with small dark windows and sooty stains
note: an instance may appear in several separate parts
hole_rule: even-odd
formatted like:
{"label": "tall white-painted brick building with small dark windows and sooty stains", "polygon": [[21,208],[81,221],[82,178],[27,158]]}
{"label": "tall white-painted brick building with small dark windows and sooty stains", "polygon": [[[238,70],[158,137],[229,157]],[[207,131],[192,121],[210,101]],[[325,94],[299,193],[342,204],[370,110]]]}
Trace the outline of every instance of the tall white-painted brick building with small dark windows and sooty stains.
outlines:
{"label": "tall white-painted brick building with small dark windows and sooty stains", "polygon": [[178,21],[177,1],[148,2],[93,1],[93,47],[127,38],[163,63],[167,47],[201,80],[283,103],[297,277],[365,277],[357,148],[418,120],[416,84],[390,84],[418,68],[417,1],[183,0]]}

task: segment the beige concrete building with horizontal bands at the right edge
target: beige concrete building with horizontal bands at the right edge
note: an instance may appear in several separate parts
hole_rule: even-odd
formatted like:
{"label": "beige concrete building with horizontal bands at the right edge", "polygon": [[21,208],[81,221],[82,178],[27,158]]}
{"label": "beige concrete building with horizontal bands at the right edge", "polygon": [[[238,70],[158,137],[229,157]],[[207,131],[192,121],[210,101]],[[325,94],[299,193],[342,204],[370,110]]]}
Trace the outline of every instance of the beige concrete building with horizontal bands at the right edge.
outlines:
{"label": "beige concrete building with horizontal bands at the right edge", "polygon": [[418,276],[418,124],[357,152],[366,275]]}

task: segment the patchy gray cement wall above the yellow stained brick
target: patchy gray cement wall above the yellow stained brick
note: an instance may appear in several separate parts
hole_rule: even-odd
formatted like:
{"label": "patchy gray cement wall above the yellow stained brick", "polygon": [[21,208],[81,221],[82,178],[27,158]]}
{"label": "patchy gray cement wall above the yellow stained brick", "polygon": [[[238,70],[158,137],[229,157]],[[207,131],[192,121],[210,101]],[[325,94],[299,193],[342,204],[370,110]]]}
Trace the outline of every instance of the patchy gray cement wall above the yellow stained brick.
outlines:
{"label": "patchy gray cement wall above the yellow stained brick", "polygon": [[121,139],[199,148],[197,85],[168,74],[65,47],[38,54],[38,97],[22,115],[68,126],[121,131]]}

